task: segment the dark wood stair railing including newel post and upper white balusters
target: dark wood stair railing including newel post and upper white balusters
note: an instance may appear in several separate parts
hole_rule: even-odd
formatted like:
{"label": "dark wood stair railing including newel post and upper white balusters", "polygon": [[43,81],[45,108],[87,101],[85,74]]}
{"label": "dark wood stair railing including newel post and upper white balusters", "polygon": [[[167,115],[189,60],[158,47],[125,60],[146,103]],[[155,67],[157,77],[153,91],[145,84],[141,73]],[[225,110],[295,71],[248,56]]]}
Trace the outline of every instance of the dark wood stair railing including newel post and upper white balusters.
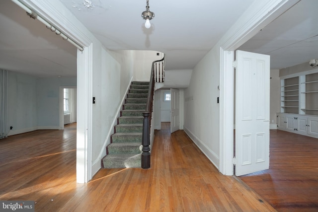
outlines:
{"label": "dark wood stair railing including newel post and upper white balusters", "polygon": [[143,116],[144,116],[143,137],[142,137],[143,153],[141,154],[141,167],[143,169],[150,168],[150,127],[151,127],[151,119],[152,119],[152,112],[153,112],[155,82],[163,82],[163,81],[164,81],[164,57],[159,61],[154,61],[152,64],[146,111],[143,112]]}

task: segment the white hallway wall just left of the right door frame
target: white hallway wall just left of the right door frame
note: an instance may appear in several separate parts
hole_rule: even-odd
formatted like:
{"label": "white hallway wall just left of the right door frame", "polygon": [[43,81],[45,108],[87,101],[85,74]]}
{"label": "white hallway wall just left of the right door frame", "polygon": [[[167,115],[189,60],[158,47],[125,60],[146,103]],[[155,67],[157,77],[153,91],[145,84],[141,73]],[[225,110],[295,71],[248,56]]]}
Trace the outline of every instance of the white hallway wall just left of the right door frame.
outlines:
{"label": "white hallway wall just left of the right door frame", "polygon": [[193,69],[184,89],[184,131],[216,167],[220,155],[220,56],[212,49]]}

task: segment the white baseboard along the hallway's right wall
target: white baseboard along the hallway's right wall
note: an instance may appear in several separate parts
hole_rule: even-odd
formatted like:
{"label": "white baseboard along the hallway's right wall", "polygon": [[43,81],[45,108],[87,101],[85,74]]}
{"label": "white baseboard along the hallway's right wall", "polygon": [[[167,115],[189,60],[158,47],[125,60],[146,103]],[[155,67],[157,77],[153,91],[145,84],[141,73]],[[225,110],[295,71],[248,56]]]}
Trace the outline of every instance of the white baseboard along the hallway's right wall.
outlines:
{"label": "white baseboard along the hallway's right wall", "polygon": [[189,136],[189,138],[198,146],[198,148],[205,154],[205,156],[213,163],[215,167],[219,169],[220,158],[214,153],[207,145],[197,138],[189,129],[183,126],[183,131]]}

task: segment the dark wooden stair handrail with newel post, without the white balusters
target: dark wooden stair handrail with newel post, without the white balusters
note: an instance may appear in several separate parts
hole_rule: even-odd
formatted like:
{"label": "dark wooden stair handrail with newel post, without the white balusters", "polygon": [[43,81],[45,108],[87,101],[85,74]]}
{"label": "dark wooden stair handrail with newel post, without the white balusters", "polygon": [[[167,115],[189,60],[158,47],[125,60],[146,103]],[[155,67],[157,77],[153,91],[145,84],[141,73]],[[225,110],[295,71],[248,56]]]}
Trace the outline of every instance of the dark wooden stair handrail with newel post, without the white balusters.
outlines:
{"label": "dark wooden stair handrail with newel post, without the white balusters", "polygon": [[[151,119],[152,119],[151,114],[153,112],[153,99],[154,99],[154,92],[155,92],[155,64],[163,60],[164,60],[164,57],[159,61],[154,61],[152,64],[146,111],[143,112],[143,116],[144,116],[143,137],[142,137],[143,152],[141,154],[141,167],[143,169],[150,168],[150,127],[151,127]],[[162,63],[162,71],[163,69],[164,68]]]}

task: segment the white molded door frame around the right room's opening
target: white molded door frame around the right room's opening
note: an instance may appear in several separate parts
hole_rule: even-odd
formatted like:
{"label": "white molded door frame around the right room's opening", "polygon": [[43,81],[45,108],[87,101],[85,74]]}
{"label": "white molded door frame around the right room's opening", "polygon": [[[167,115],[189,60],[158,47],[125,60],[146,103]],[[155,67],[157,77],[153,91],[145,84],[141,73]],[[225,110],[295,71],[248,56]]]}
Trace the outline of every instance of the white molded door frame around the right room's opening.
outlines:
{"label": "white molded door frame around the right room's opening", "polygon": [[[233,175],[234,158],[234,51],[299,0],[254,2],[250,14],[239,18],[219,41],[220,46],[220,164],[222,174]],[[247,10],[246,10],[247,11]],[[253,18],[250,18],[253,17]]]}

